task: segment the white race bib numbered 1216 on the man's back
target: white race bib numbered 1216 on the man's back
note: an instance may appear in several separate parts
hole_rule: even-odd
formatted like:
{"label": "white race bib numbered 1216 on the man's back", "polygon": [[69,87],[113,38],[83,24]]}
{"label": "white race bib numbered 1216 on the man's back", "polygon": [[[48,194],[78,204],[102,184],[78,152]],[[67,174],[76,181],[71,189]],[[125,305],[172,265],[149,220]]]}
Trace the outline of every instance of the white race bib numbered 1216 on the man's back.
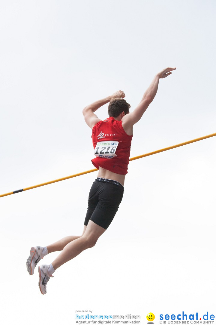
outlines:
{"label": "white race bib numbered 1216 on the man's back", "polygon": [[111,159],[116,157],[118,141],[97,142],[94,155],[101,158]]}

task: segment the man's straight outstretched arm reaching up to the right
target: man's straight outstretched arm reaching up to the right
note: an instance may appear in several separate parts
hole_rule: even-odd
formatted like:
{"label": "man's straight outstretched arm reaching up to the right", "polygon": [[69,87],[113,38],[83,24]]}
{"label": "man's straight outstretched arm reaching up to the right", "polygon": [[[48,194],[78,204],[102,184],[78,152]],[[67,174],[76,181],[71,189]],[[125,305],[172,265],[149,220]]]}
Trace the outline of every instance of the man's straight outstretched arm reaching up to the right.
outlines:
{"label": "man's straight outstretched arm reaching up to the right", "polygon": [[170,75],[173,71],[176,70],[176,68],[166,68],[162,70],[161,72],[157,73],[156,76],[154,77],[151,85],[148,87],[146,92],[144,93],[141,102],[137,106],[137,108],[131,112],[130,114],[126,114],[125,116],[122,117],[122,127],[125,130],[126,133],[132,134],[132,128],[135,123],[137,123],[144,112],[147,110],[148,106],[151,104],[153,101],[157,89],[158,89],[158,84],[159,80],[166,78],[168,75]]}

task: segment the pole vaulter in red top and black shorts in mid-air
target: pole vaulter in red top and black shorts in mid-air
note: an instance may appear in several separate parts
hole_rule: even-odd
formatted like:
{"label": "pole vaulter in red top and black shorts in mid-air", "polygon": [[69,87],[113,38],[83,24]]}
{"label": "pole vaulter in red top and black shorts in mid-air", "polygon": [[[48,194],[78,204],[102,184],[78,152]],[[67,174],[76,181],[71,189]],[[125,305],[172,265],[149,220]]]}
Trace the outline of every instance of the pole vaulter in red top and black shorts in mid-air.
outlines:
{"label": "pole vaulter in red top and black shorts in mid-air", "polygon": [[[173,70],[176,68],[166,68],[156,74],[141,102],[130,114],[130,105],[123,99],[125,93],[121,90],[84,108],[85,122],[92,129],[96,156],[92,159],[92,163],[99,171],[89,192],[82,235],[68,236],[46,247],[36,246],[30,250],[26,263],[30,275],[34,273],[35,266],[41,258],[48,253],[62,251],[51,264],[38,266],[39,287],[42,294],[46,293],[47,282],[50,277],[53,277],[55,270],[85,249],[93,247],[112,222],[123,197],[133,125],[141,119],[153,101],[159,80],[170,75]],[[94,112],[108,102],[109,117],[101,121]]]}

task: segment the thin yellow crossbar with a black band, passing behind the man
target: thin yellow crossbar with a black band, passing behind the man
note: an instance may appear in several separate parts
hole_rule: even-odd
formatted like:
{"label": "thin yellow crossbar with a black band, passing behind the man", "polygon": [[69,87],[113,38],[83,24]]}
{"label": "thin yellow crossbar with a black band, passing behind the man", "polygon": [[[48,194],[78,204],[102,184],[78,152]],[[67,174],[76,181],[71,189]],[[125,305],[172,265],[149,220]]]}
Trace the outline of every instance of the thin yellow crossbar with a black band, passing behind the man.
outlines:
{"label": "thin yellow crossbar with a black band, passing behind the man", "polygon": [[[143,157],[147,157],[147,156],[151,156],[151,155],[154,155],[155,153],[159,153],[159,152],[162,152],[162,151],[166,151],[166,150],[174,149],[174,148],[177,148],[177,147],[185,146],[186,144],[193,143],[193,142],[200,141],[200,140],[204,140],[204,139],[210,138],[211,136],[216,136],[216,133],[209,134],[208,136],[202,136],[200,138],[197,138],[197,139],[194,139],[194,140],[190,140],[190,141],[187,141],[187,142],[179,143],[179,144],[176,144],[175,146],[171,146],[171,147],[167,147],[167,148],[164,148],[164,149],[159,149],[159,150],[156,150],[156,151],[152,151],[152,152],[149,152],[149,153],[145,153],[144,155],[130,158],[130,161],[136,160],[136,159],[140,159],[140,158],[143,158]],[[27,191],[28,189],[32,189],[32,188],[36,188],[36,187],[40,187],[40,186],[44,186],[44,185],[48,185],[48,184],[60,182],[60,181],[63,181],[64,179],[69,179],[69,178],[73,178],[73,177],[76,177],[76,176],[80,176],[80,175],[84,175],[84,174],[96,172],[97,170],[98,170],[97,168],[90,169],[90,170],[87,170],[87,171],[82,172],[82,173],[78,173],[78,174],[74,174],[74,175],[71,175],[71,176],[66,176],[66,177],[63,177],[63,178],[55,179],[55,180],[50,181],[50,182],[46,182],[46,183],[42,183],[42,184],[30,186],[30,187],[27,187],[27,188],[18,189],[17,191],[13,191],[13,192],[1,194],[0,195],[0,198],[3,197],[3,196],[15,194],[15,193],[18,193],[18,192]]]}

